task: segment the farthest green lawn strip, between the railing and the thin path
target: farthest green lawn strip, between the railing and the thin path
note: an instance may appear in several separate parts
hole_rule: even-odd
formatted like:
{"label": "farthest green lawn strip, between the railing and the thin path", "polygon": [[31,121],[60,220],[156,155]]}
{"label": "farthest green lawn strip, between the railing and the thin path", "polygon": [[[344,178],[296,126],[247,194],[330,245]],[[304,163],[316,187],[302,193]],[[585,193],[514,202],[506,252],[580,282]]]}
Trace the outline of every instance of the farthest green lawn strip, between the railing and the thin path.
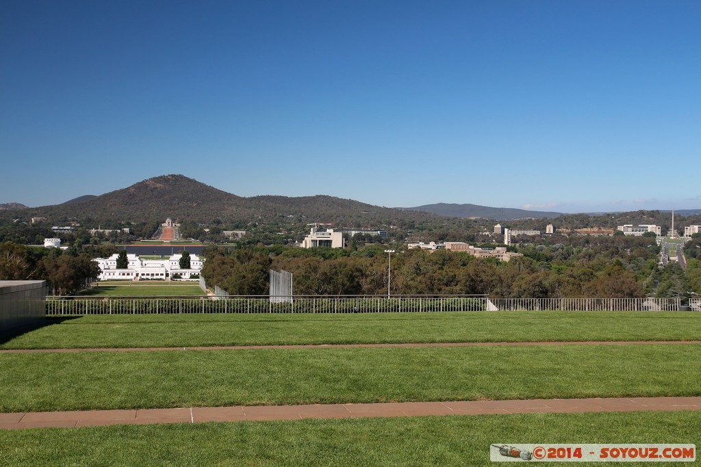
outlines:
{"label": "farthest green lawn strip, between the railing and the thin path", "polygon": [[698,312],[148,314],[49,319],[3,349],[698,340]]}

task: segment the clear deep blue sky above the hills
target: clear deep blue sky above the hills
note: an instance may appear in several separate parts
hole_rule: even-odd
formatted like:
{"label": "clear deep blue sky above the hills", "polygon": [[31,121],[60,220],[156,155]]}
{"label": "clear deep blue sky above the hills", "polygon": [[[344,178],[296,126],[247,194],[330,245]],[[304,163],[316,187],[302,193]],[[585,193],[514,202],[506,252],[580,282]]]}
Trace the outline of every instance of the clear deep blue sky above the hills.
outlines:
{"label": "clear deep blue sky above the hills", "polygon": [[701,2],[0,4],[0,202],[701,208]]}

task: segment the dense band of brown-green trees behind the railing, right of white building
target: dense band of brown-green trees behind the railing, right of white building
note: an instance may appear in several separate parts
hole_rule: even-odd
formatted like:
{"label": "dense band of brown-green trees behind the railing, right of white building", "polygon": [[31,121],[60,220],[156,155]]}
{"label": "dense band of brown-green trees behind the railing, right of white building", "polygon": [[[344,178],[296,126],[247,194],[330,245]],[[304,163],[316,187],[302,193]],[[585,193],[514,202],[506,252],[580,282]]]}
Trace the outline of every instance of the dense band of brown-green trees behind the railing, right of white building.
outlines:
{"label": "dense band of brown-green trees behind the railing, right of white building", "polygon": [[[268,270],[294,274],[294,294],[385,295],[383,246],[358,249],[252,247],[205,249],[203,276],[231,295],[268,293]],[[562,237],[562,243],[524,244],[524,256],[502,262],[468,253],[397,250],[389,293],[488,294],[494,298],[639,298],[651,290],[659,247],[644,237]]]}

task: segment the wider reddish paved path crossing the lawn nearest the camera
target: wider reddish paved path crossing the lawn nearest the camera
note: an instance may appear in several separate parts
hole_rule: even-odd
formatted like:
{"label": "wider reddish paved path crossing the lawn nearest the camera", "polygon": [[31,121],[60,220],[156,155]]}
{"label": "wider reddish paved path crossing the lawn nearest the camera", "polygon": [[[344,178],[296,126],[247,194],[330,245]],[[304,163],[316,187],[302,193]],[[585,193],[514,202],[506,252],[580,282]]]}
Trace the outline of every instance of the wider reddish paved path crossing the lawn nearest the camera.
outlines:
{"label": "wider reddish paved path crossing the lawn nearest the camera", "polygon": [[179,409],[17,412],[0,413],[0,428],[297,420],[310,418],[411,417],[416,415],[634,412],[639,410],[701,410],[701,397],[476,400],[329,405],[239,405],[234,407],[186,407]]}

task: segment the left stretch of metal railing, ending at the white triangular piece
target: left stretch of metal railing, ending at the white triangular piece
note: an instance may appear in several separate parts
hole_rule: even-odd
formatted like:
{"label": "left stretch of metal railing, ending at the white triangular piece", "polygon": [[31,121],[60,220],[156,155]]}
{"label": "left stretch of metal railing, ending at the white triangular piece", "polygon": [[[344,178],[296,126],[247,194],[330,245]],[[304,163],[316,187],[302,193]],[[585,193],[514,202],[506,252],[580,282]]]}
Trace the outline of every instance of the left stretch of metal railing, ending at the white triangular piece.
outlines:
{"label": "left stretch of metal railing, ending at the white triangular piece", "polygon": [[[289,295],[285,295],[285,300]],[[484,295],[346,295],[339,297],[295,295],[292,302],[275,302],[269,295],[226,297],[49,297],[46,313],[75,314],[178,314],[178,313],[390,313],[463,312],[487,309]]]}

